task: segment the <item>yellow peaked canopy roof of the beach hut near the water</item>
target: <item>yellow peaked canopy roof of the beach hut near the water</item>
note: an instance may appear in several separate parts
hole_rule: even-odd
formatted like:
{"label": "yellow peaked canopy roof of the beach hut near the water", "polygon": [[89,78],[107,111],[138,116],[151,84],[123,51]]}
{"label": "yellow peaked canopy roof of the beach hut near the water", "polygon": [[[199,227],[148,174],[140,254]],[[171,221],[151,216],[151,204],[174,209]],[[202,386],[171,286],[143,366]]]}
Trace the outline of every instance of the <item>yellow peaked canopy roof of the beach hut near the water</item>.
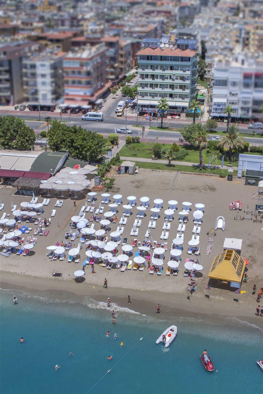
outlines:
{"label": "yellow peaked canopy roof of the beach hut near the water", "polygon": [[246,262],[234,250],[227,249],[214,258],[208,277],[228,282],[241,282]]}

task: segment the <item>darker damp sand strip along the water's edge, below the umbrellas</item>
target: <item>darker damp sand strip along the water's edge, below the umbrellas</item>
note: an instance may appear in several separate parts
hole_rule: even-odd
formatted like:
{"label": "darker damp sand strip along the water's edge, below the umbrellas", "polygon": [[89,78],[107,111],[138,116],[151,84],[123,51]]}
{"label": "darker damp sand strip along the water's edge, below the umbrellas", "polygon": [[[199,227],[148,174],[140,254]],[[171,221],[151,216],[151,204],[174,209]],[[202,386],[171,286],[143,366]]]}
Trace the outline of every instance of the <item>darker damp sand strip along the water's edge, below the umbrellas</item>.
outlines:
{"label": "darker damp sand strip along the water's edge, below the umbrellas", "polygon": [[[60,281],[52,279],[43,279],[33,277],[29,275],[19,275],[10,273],[7,271],[1,271],[0,288],[3,290],[33,290],[33,291],[58,291],[68,292],[68,294],[89,296],[91,299],[99,302],[106,302],[107,297],[111,298],[111,303],[115,303],[119,307],[128,308],[135,312],[139,312],[141,315],[150,317],[157,317],[156,305],[160,303],[161,313],[158,315],[160,319],[164,316],[167,318],[194,318],[201,320],[209,320],[219,322],[222,319],[228,318],[228,322],[231,323],[231,318],[237,318],[240,322],[254,325],[258,329],[263,329],[263,320],[260,317],[252,316],[246,313],[247,311],[239,311],[234,307],[229,308],[215,308],[213,305],[208,305],[210,302],[208,299],[207,304],[201,305],[198,300],[199,297],[190,295],[184,297],[185,299],[179,299],[178,294],[174,294],[175,299],[171,297],[171,294],[156,292],[156,291],[136,291],[134,289],[124,289],[118,287],[112,287],[104,289],[103,286],[97,286],[91,284],[91,286],[81,286],[82,283],[75,281]],[[128,304],[128,294],[131,296],[131,304]],[[111,309],[111,308],[110,308]],[[238,312],[238,313],[237,313]],[[235,324],[234,322],[232,322]],[[225,322],[224,322],[225,324]]]}

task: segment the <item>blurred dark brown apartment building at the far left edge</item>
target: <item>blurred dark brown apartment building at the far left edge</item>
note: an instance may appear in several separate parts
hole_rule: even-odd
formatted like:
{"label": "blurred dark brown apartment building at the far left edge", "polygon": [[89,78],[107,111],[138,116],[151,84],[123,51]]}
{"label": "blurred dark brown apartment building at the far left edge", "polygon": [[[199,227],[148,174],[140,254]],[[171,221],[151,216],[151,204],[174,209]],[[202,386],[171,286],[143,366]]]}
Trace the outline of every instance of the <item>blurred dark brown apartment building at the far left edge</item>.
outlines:
{"label": "blurred dark brown apartment building at the far left edge", "polygon": [[28,53],[38,51],[39,43],[10,41],[0,44],[0,103],[19,104],[24,100],[22,61]]}

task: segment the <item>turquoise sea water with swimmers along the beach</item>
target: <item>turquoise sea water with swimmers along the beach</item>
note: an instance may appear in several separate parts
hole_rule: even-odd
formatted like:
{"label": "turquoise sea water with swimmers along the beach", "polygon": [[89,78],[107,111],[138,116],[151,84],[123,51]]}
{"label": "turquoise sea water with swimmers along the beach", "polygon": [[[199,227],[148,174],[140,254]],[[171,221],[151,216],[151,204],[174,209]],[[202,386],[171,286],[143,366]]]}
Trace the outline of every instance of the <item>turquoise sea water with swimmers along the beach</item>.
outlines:
{"label": "turquoise sea water with swimmers along the beach", "polygon": [[[14,294],[17,305],[11,300]],[[262,392],[263,375],[256,364],[263,356],[262,331],[257,327],[237,319],[156,323],[155,318],[112,306],[115,326],[106,304],[89,297],[2,290],[1,394]],[[164,349],[155,341],[171,323],[178,335]],[[204,348],[218,372],[203,368],[199,355]],[[111,361],[108,355],[113,355]]]}

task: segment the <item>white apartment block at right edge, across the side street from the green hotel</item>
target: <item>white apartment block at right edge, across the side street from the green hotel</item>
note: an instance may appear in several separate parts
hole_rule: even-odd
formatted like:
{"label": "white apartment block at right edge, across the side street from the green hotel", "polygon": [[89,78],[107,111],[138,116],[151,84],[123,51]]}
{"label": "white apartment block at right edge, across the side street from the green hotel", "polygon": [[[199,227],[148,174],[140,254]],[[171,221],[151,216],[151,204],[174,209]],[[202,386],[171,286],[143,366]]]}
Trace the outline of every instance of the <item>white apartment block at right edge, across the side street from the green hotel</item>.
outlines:
{"label": "white apartment block at right edge, across the side street from the green hotel", "polygon": [[212,72],[212,117],[225,116],[227,104],[234,109],[232,117],[262,118],[259,108],[263,105],[262,63],[257,63],[248,54],[233,58],[213,59]]}

